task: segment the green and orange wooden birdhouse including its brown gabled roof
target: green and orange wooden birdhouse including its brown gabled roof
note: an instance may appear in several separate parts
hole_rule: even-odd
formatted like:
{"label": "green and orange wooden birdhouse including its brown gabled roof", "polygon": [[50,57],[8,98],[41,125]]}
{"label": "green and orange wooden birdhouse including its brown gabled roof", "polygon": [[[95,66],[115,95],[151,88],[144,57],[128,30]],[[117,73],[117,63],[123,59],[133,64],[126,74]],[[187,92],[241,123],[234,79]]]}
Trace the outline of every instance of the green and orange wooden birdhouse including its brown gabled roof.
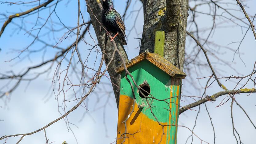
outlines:
{"label": "green and orange wooden birdhouse including its brown gabled roof", "polygon": [[121,74],[117,143],[175,144],[181,79],[186,74],[149,52],[131,59],[126,67],[141,92],[129,75],[130,82],[126,79],[123,65],[115,69]]}

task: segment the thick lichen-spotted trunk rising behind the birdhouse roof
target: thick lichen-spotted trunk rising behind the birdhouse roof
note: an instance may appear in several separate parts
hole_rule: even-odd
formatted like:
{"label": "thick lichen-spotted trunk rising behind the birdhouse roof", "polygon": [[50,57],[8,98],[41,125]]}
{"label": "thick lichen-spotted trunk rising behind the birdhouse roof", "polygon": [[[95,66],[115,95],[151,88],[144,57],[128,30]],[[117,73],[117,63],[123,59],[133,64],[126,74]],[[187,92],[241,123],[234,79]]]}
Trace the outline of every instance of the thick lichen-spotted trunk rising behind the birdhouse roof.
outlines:
{"label": "thick lichen-spotted trunk rising behind the birdhouse roof", "polygon": [[[167,3],[167,5],[166,5]],[[140,53],[154,52],[154,35],[165,31],[164,58],[183,70],[188,0],[145,0]]]}

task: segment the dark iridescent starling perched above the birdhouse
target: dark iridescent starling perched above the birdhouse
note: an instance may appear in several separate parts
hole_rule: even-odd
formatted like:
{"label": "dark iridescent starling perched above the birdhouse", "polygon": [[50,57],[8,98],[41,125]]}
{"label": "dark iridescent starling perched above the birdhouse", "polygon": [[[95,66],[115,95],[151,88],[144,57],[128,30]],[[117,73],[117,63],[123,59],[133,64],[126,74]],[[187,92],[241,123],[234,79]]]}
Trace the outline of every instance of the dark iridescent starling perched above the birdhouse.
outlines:
{"label": "dark iridescent starling perched above the birdhouse", "polygon": [[110,39],[111,42],[118,37],[123,45],[127,45],[124,22],[121,15],[114,9],[112,0],[102,0],[102,24],[107,31],[115,34]]}

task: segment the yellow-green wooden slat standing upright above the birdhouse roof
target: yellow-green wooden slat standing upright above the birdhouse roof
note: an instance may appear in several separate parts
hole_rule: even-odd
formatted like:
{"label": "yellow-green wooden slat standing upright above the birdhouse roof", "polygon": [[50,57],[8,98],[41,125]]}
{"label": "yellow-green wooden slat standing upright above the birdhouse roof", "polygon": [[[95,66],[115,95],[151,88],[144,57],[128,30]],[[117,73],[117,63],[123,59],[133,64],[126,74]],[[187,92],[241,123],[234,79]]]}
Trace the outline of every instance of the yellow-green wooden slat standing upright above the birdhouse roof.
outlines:
{"label": "yellow-green wooden slat standing upright above the birdhouse roof", "polygon": [[164,57],[164,31],[156,31],[154,53]]}

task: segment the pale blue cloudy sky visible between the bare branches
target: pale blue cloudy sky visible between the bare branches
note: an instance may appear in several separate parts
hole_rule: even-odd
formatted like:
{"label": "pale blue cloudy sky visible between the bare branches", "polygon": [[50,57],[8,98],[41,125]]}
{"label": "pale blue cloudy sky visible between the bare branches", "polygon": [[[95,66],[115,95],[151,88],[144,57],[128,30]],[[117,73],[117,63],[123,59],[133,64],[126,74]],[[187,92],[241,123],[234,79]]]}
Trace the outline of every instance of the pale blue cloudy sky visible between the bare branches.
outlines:
{"label": "pale blue cloudy sky visible between the bare branches", "polygon": [[[229,1],[230,2],[230,1]],[[65,23],[66,26],[74,27],[77,23],[77,2],[71,1],[66,5],[67,1],[61,1],[58,4],[58,7],[56,9],[56,13],[61,18],[62,22]],[[124,2],[123,1],[114,1],[114,7],[115,9],[122,15],[124,12]],[[129,12],[138,10],[141,8],[141,3],[139,1],[133,1],[131,4],[131,7],[129,9]],[[246,11],[249,14],[255,14],[255,10],[253,9],[256,4],[253,1],[248,2],[249,8],[246,7]],[[27,10],[30,7],[27,6],[20,6],[20,5],[12,5],[7,6],[7,4],[0,4],[0,11],[1,13],[5,13],[6,15],[10,15],[13,13],[21,12],[22,10]],[[231,7],[233,8],[233,7]],[[240,7],[234,7],[235,9],[239,9]],[[86,12],[86,5],[84,1],[81,1],[81,9],[84,14],[85,20],[89,20],[89,15]],[[51,9],[52,10],[52,9]],[[202,7],[200,9],[202,11],[207,11],[206,8]],[[243,17],[242,13],[238,13],[235,11],[232,11],[235,15],[238,15],[239,17]],[[49,15],[49,10],[44,10],[39,13],[41,20],[39,22],[44,22],[43,19],[47,18],[47,15]],[[134,12],[128,19],[125,20],[125,25],[127,27],[127,30],[130,30],[132,26],[134,25],[134,19],[136,17],[136,12]],[[0,17],[3,18],[3,17]],[[36,20],[37,16],[30,16],[28,18],[24,19],[24,22],[26,22],[26,28],[30,30],[34,24],[30,24],[30,22],[34,22]],[[53,21],[58,21],[57,17],[53,15],[52,17]],[[190,18],[190,16],[189,16]],[[211,23],[212,18],[207,16],[202,16],[198,18],[198,26],[200,28],[209,27],[212,25]],[[0,25],[2,26],[3,20],[0,19]],[[21,23],[20,19],[13,19],[13,22],[15,23]],[[82,22],[82,21],[81,21]],[[245,21],[247,22],[247,21]],[[254,22],[255,23],[255,22]],[[229,24],[226,24],[229,25]],[[46,25],[50,26],[50,25]],[[55,25],[58,27],[58,25]],[[136,29],[139,33],[139,36],[135,33],[135,30],[133,29],[131,31],[131,34],[128,36],[128,46],[126,47],[127,54],[129,59],[135,57],[138,55],[139,49],[136,48],[139,46],[138,38],[141,37],[142,33],[142,27],[143,26],[143,10],[140,11],[138,20],[136,22]],[[222,24],[220,26],[225,26],[225,24]],[[233,26],[231,24],[231,26]],[[34,29],[38,28],[38,26],[35,26]],[[13,23],[8,25],[6,27],[6,30],[4,31],[2,37],[0,38],[0,48],[2,51],[0,51],[0,72],[1,73],[8,73],[9,70],[13,70],[15,73],[19,73],[24,71],[26,66],[33,66],[35,64],[38,64],[42,62],[42,52],[35,53],[30,56],[29,58],[25,58],[22,62],[17,63],[20,59],[15,59],[11,62],[5,62],[8,61],[18,55],[17,51],[12,51],[12,49],[24,49],[26,46],[28,46],[32,41],[33,37],[26,34],[24,31],[19,31],[17,29],[17,26],[15,26]],[[44,29],[46,30],[46,29]],[[189,29],[188,31],[192,31],[193,29]],[[49,42],[51,45],[55,45],[56,42],[63,36],[63,34],[67,30],[62,30],[59,33],[50,34],[49,37],[46,35],[42,37],[44,40]],[[36,34],[36,30],[33,31],[34,34]],[[90,30],[92,37],[95,38],[94,31]],[[243,30],[244,32],[244,30]],[[127,31],[126,31],[127,33]],[[43,33],[42,33],[43,34]],[[208,33],[202,34],[202,36],[207,35]],[[219,28],[214,31],[214,35],[210,36],[209,40],[217,42],[220,45],[227,46],[230,42],[236,42],[240,41],[242,39],[243,33],[239,27],[231,27],[231,28]],[[60,47],[66,47],[69,46],[70,43],[74,40],[75,37],[68,37],[65,41],[58,44]],[[90,38],[90,36],[87,34],[85,36],[86,42],[89,42],[90,44],[94,45],[94,41]],[[187,38],[186,40],[186,52],[190,52],[193,50],[197,50],[198,48],[194,48],[194,41],[191,40],[191,38]],[[33,44],[29,50],[38,50],[42,48],[43,44],[40,42],[37,42]],[[238,45],[231,44],[228,45],[229,47],[235,49]],[[88,54],[88,49],[91,47],[89,45],[86,45],[84,43],[81,43],[79,45],[82,56],[86,56]],[[214,67],[217,70],[217,74],[222,76],[230,76],[230,75],[238,75],[240,73],[241,75],[246,75],[251,73],[254,62],[256,60],[255,58],[255,51],[256,51],[256,42],[252,35],[252,32],[249,30],[248,34],[246,35],[246,38],[244,42],[241,45],[240,52],[242,60],[246,63],[246,67],[243,65],[242,61],[239,59],[238,55],[235,55],[235,60],[232,62],[233,59],[233,51],[229,51],[226,49],[219,49],[217,46],[209,46],[205,45],[206,49],[213,49],[215,50],[216,57],[210,56],[210,60],[213,63]],[[52,48],[47,48],[47,51],[44,55],[44,59],[47,60],[49,58],[52,58],[57,50]],[[221,53],[221,54],[218,54]],[[21,55],[21,58],[26,56],[26,52]],[[100,58],[95,58],[96,52],[93,52],[91,56],[89,57],[89,60],[91,63],[89,66],[93,66],[93,62],[96,61],[96,64],[98,64]],[[69,55],[70,56],[70,55]],[[203,57],[200,59],[202,62],[206,62],[206,59]],[[231,69],[230,67],[223,65],[223,63],[218,60],[218,58],[224,59],[225,62],[228,63],[228,65],[235,67],[235,70]],[[63,67],[67,65],[67,62],[63,62]],[[50,65],[48,65],[50,66]],[[47,67],[47,66],[46,66]],[[36,72],[40,72],[46,67],[43,67],[41,69],[36,69],[32,73],[30,73],[30,76],[35,75]],[[0,101],[0,119],[3,121],[0,121],[0,135],[10,135],[10,134],[18,134],[18,133],[27,133],[32,132],[34,130],[37,130],[41,128],[42,126],[45,126],[49,122],[53,121],[54,119],[58,118],[60,116],[58,112],[58,104],[55,100],[55,97],[53,94],[47,92],[52,87],[52,77],[54,74],[54,69],[56,66],[53,66],[53,70],[50,72],[50,74],[44,74],[40,77],[38,77],[36,80],[29,83],[29,87],[26,88],[28,82],[22,82],[19,87],[8,96],[8,98],[2,99]],[[196,83],[193,83],[193,85],[196,85],[201,90],[201,93],[198,92],[198,90],[195,90],[193,86],[191,86],[191,83],[189,80],[186,81],[186,79],[183,81],[182,86],[182,95],[196,95],[201,96],[203,86],[205,85],[206,79],[200,79],[196,80],[196,78],[201,78],[205,76],[210,76],[210,70],[204,69],[204,70],[197,70],[198,73],[195,72],[195,70],[192,70],[194,73],[187,76],[188,78],[194,79]],[[186,72],[186,69],[185,69]],[[75,78],[74,78],[75,79]],[[7,81],[1,81],[0,87],[3,86]],[[105,77],[102,79],[102,82],[109,83],[108,79]],[[233,82],[225,82],[224,80],[221,80],[222,83],[228,88],[233,89],[235,86],[235,83]],[[251,88],[253,85],[250,83],[247,88]],[[97,90],[95,90],[95,93],[91,94],[88,99],[86,99],[86,106],[89,109],[86,111],[83,107],[79,107],[77,110],[73,111],[69,116],[69,121],[77,125],[71,126],[75,137],[77,138],[78,143],[111,143],[115,141],[116,137],[116,128],[117,128],[117,108],[115,104],[114,94],[102,94],[99,91],[101,90],[111,90],[111,86],[100,84],[97,86]],[[221,91],[222,89],[217,85],[216,82],[214,82],[209,89],[207,90],[207,94],[214,94],[218,91]],[[72,91],[67,92],[67,94],[72,94]],[[223,98],[225,96],[222,96]],[[215,143],[225,143],[225,144],[231,144],[235,143],[235,139],[232,133],[232,123],[230,118],[230,101],[227,102],[225,105],[216,108],[216,106],[222,101],[223,98],[218,98],[216,102],[211,103],[208,102],[207,106],[210,111],[213,124],[215,127],[215,133],[216,133],[216,142]],[[106,100],[108,100],[108,103],[106,104],[105,109],[102,108],[102,106],[105,106]],[[183,99],[185,100],[185,99]],[[256,123],[256,114],[255,114],[255,105],[256,105],[256,98],[255,94],[251,94],[250,96],[246,96],[246,94],[239,94],[236,95],[236,100],[240,102],[240,104],[244,107],[247,114],[251,117],[254,123]],[[193,102],[193,100],[189,99],[185,102],[181,102],[181,105],[184,106],[188,104],[189,102]],[[67,109],[70,109],[73,107],[75,102],[69,102],[67,104]],[[198,122],[195,128],[195,134],[197,134],[200,138],[203,140],[213,143],[213,132],[212,127],[210,125],[210,121],[207,115],[207,112],[205,110],[204,105],[201,106],[201,111],[199,113]],[[106,117],[104,118],[104,110],[106,111]],[[198,110],[198,107],[194,108],[194,110]],[[179,118],[179,125],[188,126],[189,128],[193,128],[194,125],[194,118],[197,114],[197,111],[194,110],[188,110],[180,115]],[[85,116],[83,117],[83,114]],[[82,120],[81,120],[82,118]],[[104,125],[104,119],[105,119],[105,125]],[[245,144],[251,144],[255,141],[255,134],[256,130],[252,127],[249,120],[246,118],[245,114],[242,112],[242,110],[234,104],[234,120],[235,120],[235,126],[237,130],[240,133],[242,142]],[[105,128],[106,126],[106,128]],[[62,143],[64,140],[68,142],[69,144],[76,143],[76,140],[72,134],[71,130],[68,130],[66,127],[66,124],[63,120],[60,120],[59,122],[54,123],[52,126],[46,129],[47,138],[50,139],[50,142],[55,143]],[[178,144],[183,144],[186,142],[186,138],[191,134],[191,132],[185,128],[179,127],[178,129]],[[7,143],[16,143],[20,137],[15,138],[8,138]],[[2,141],[1,141],[2,142]],[[199,143],[200,140],[198,138],[194,138],[194,143]],[[3,143],[3,142],[2,142]],[[33,134],[31,136],[26,136],[21,144],[30,144],[30,143],[45,143],[45,136],[44,132],[41,131],[39,133]]]}

